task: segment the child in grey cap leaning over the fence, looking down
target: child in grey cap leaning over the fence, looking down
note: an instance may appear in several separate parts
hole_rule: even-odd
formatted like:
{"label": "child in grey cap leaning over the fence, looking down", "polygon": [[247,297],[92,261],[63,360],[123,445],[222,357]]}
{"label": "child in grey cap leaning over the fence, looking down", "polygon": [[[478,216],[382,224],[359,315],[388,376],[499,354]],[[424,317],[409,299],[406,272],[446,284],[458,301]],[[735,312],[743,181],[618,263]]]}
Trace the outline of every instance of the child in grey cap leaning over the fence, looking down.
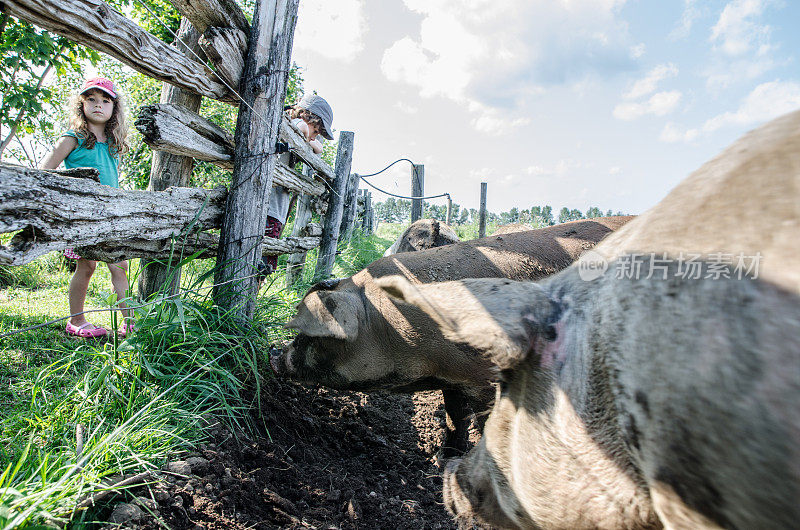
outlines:
{"label": "child in grey cap leaning over the fence, looking down", "polygon": [[[292,107],[289,114],[292,124],[303,133],[306,141],[311,146],[311,150],[317,154],[322,152],[322,142],[320,136],[333,140],[333,109],[325,99],[314,94],[306,96],[300,103]],[[289,165],[290,154],[281,155],[283,162]],[[286,217],[291,207],[291,194],[280,186],[272,188],[269,194],[269,207],[267,209],[267,229],[264,232],[268,237],[280,237],[283,225],[286,224]],[[259,273],[261,278],[275,272],[278,267],[278,256],[265,256],[262,258]]]}

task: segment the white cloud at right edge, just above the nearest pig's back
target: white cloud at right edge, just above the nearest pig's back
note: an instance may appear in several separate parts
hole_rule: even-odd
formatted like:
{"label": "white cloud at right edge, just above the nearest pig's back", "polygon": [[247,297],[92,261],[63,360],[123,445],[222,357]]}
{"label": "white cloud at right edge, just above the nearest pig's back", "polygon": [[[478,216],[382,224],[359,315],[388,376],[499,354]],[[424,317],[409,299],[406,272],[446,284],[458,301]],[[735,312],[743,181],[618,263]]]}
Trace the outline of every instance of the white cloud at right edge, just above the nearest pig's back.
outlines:
{"label": "white cloud at right edge, just above the nearest pig's back", "polygon": [[800,108],[800,84],[788,81],[762,83],[753,89],[736,111],[706,121],[703,130],[713,132],[728,125],[753,125]]}

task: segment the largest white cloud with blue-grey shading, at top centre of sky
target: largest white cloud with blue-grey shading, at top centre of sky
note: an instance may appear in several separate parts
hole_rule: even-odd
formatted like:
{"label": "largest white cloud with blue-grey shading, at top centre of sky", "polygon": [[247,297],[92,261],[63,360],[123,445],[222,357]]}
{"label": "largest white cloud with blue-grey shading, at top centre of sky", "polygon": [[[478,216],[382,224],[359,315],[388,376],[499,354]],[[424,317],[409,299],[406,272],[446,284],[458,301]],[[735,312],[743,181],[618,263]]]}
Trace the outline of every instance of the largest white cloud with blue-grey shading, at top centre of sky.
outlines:
{"label": "largest white cloud with blue-grey shading, at top centre of sky", "polygon": [[544,87],[633,65],[625,0],[404,1],[420,33],[384,52],[384,76],[470,108],[484,132],[498,128],[487,109],[513,112]]}

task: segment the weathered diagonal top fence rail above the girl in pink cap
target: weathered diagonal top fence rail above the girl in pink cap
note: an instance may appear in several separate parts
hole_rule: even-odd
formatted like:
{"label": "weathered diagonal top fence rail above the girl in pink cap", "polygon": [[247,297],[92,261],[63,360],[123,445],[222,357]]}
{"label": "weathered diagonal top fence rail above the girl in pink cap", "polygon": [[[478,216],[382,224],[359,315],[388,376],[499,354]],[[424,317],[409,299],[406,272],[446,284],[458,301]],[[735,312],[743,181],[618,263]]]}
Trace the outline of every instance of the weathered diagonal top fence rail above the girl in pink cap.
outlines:
{"label": "weathered diagonal top fence rail above the girl in pink cap", "polygon": [[100,0],[3,0],[2,5],[5,13],[107,53],[145,75],[202,96],[233,98],[204,64]]}

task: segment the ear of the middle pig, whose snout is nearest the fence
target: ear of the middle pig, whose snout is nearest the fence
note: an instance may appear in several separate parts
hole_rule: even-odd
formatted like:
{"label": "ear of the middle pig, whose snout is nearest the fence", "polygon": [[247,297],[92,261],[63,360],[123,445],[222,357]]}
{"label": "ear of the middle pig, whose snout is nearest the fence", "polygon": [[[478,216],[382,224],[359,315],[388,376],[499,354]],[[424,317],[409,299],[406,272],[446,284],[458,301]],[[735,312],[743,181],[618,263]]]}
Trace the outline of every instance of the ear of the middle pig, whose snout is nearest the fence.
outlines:
{"label": "ear of the middle pig, whose snout is nearest the fence", "polygon": [[358,299],[351,293],[314,291],[297,306],[287,328],[310,337],[354,340],[358,336]]}

